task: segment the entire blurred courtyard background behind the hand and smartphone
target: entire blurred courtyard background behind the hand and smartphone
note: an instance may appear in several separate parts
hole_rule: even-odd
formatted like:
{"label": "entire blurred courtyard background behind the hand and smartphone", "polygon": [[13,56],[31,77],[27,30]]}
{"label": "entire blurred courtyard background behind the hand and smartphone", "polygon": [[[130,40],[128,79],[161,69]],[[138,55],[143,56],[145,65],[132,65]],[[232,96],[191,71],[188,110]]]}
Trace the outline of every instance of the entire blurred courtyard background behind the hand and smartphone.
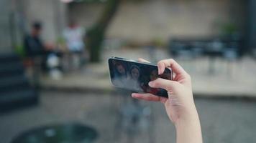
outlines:
{"label": "entire blurred courtyard background behind the hand and smartphone", "polygon": [[204,142],[256,142],[256,1],[0,0],[0,142],[175,142],[162,104],[109,80],[110,56],[173,58]]}

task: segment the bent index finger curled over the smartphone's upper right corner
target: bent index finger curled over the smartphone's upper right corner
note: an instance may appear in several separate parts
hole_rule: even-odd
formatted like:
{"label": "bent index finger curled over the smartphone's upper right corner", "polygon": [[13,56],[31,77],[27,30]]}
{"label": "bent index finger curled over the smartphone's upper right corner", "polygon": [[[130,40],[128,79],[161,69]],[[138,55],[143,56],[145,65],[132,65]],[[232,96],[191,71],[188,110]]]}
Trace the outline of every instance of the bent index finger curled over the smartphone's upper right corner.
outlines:
{"label": "bent index finger curled over the smartphone's upper right corner", "polygon": [[165,71],[165,67],[170,67],[173,69],[175,74],[180,74],[184,77],[188,75],[188,73],[178,64],[174,59],[164,59],[157,63],[159,74],[163,74]]}

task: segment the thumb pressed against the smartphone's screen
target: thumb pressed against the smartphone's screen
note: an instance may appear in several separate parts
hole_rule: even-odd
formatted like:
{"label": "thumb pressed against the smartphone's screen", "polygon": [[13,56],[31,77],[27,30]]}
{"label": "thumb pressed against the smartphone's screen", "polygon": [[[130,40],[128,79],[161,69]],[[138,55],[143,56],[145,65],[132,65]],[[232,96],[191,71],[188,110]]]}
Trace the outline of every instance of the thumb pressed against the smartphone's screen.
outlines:
{"label": "thumb pressed against the smartphone's screen", "polygon": [[165,89],[168,92],[175,91],[178,87],[178,82],[171,81],[168,79],[157,78],[152,82],[148,83],[150,87]]}

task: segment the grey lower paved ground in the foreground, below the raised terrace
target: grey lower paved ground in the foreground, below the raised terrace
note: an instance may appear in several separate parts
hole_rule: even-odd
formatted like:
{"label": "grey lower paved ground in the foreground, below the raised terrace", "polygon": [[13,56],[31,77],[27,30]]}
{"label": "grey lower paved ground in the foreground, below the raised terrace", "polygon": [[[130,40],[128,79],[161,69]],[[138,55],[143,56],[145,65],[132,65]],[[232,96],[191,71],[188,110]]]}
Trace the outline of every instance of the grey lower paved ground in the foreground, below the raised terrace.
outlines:
{"label": "grey lower paved ground in the foreground, below the raised terrace", "polygon": [[[43,92],[36,107],[0,114],[0,139],[8,143],[20,132],[45,124],[81,122],[99,132],[99,143],[131,142],[124,129],[120,129],[119,112],[129,97],[121,94],[89,94]],[[126,102],[127,103],[127,102]],[[150,113],[150,120],[140,122],[134,142],[175,142],[175,130],[168,121],[162,104],[140,102]],[[256,104],[241,100],[196,99],[196,107],[206,143],[256,142]],[[150,121],[150,122],[147,122]],[[153,121],[153,122],[152,122]],[[148,123],[144,124],[144,123]],[[150,132],[148,132],[150,131]],[[118,136],[114,136],[116,133]]]}

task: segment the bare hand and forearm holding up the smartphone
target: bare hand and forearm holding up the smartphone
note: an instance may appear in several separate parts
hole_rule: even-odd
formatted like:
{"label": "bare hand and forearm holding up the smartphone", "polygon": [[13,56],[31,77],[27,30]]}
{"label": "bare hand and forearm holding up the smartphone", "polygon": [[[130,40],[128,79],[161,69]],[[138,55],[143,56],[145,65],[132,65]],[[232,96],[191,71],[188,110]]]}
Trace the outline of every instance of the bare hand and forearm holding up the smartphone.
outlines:
{"label": "bare hand and forearm holding up the smartphone", "polygon": [[[148,62],[145,59],[139,59]],[[168,98],[154,94],[133,93],[132,97],[147,101],[162,102],[166,113],[176,129],[177,143],[202,143],[201,125],[193,101],[190,75],[173,59],[165,59],[157,63],[158,74],[163,74],[165,68],[173,69],[173,80],[157,78],[149,82],[152,88],[162,88],[168,91]]]}

